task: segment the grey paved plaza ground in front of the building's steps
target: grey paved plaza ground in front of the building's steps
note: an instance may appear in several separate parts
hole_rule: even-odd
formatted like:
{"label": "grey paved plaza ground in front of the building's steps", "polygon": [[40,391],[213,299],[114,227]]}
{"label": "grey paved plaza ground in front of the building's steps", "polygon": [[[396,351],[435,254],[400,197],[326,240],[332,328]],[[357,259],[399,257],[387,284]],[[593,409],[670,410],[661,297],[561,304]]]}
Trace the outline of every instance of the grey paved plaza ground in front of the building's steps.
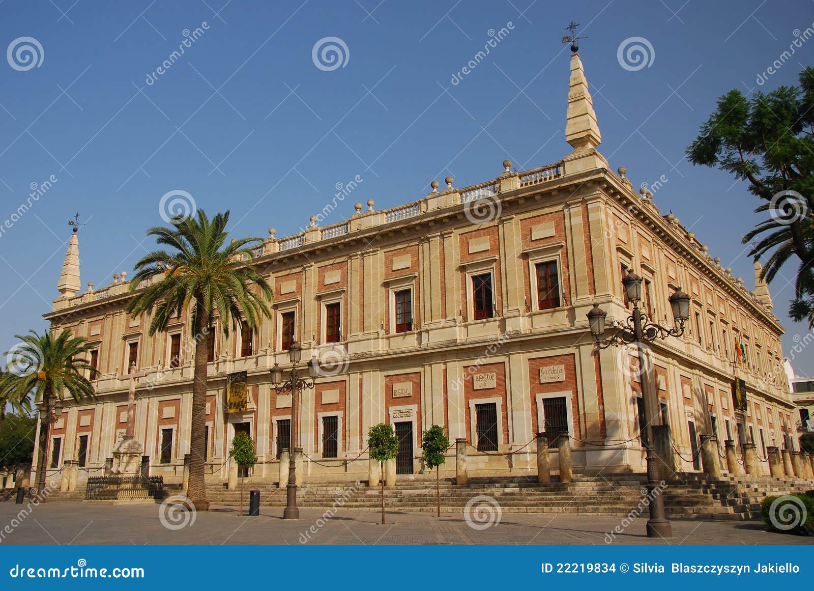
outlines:
{"label": "grey paved plaza ground in front of the building's steps", "polygon": [[[0,544],[597,544],[606,532],[622,527],[622,518],[607,516],[510,514],[479,530],[465,514],[387,513],[387,523],[374,510],[340,509],[329,519],[324,511],[304,508],[297,521],[283,520],[282,508],[263,507],[258,517],[238,514],[235,507],[214,506],[208,512],[182,514],[166,506],[126,506],[50,502],[18,515],[25,505],[0,503]],[[496,514],[482,514],[484,527]],[[165,526],[166,524],[166,526]],[[8,526],[8,527],[6,527]],[[168,527],[178,528],[170,529]],[[672,540],[649,540],[645,519],[634,519],[615,544],[814,544],[814,538],[764,532],[757,522],[672,522]],[[11,530],[11,532],[9,532]]]}

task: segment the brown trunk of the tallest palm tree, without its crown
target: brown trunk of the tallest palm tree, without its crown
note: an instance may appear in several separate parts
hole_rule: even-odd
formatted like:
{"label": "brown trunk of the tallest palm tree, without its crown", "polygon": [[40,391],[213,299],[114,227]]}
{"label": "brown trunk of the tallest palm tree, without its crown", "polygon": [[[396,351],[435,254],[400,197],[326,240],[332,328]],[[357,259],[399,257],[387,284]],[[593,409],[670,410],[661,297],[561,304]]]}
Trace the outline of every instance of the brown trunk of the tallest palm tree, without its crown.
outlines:
{"label": "brown trunk of the tallest palm tree, without its crown", "polygon": [[192,383],[192,424],[190,426],[190,482],[187,494],[195,505],[195,510],[206,511],[209,501],[206,498],[204,482],[204,447],[206,446],[206,392],[207,357],[209,339],[206,338],[208,311],[204,310],[201,299],[195,298],[195,379]]}

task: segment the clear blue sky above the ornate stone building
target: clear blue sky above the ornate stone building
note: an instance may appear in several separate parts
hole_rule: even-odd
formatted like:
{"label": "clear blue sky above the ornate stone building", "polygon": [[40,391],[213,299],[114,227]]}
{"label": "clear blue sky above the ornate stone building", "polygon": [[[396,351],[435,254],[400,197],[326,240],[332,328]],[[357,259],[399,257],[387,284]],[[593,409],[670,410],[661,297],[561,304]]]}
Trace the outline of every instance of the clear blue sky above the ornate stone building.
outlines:
{"label": "clear blue sky above the ornate stone building", "polygon": [[[726,173],[687,163],[684,150],[733,88],[794,84],[814,63],[814,40],[757,78],[814,22],[812,2],[91,2],[6,0],[0,49],[33,37],[39,65],[0,60],[0,221],[32,183],[57,180],[0,234],[0,347],[45,326],[76,212],[82,285],[106,286],[152,247],[159,202],[187,191],[208,212],[230,208],[236,234],[293,234],[361,177],[323,225],[354,201],[376,208],[426,194],[429,182],[466,186],[562,158],[569,51],[580,55],[602,130],[600,150],[635,186],[666,178],[654,199],[712,256],[752,287],[740,238],[760,218],[755,198]],[[204,28],[204,22],[206,23]],[[452,78],[511,28],[457,84]],[[164,60],[201,28],[161,74]],[[507,29],[508,30],[508,29]],[[344,65],[325,71],[314,45],[339,37]],[[628,37],[653,50],[646,68],[617,59]],[[24,66],[23,66],[24,67]],[[20,64],[18,64],[20,68]],[[772,285],[786,354],[806,330],[786,317],[791,273]],[[814,351],[795,354],[814,374]]]}

